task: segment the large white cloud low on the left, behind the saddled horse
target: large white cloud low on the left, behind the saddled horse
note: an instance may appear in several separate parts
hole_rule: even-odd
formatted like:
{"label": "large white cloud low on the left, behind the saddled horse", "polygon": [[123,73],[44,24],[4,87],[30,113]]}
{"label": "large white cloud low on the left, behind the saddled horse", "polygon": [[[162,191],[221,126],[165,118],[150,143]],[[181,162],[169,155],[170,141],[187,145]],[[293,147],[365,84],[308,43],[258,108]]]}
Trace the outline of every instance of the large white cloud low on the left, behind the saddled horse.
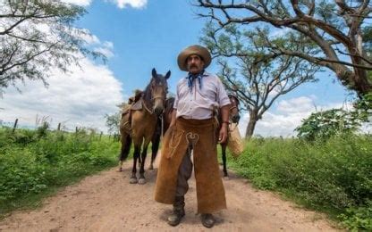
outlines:
{"label": "large white cloud low on the left, behind the saddled horse", "polygon": [[95,65],[88,59],[80,61],[80,68],[72,66],[71,73],[54,70],[47,82],[26,81],[5,89],[0,99],[0,120],[34,126],[38,117],[48,116],[52,127],[65,122],[67,128],[84,126],[106,131],[104,115],[118,112],[116,104],[123,102],[122,84],[106,66]]}

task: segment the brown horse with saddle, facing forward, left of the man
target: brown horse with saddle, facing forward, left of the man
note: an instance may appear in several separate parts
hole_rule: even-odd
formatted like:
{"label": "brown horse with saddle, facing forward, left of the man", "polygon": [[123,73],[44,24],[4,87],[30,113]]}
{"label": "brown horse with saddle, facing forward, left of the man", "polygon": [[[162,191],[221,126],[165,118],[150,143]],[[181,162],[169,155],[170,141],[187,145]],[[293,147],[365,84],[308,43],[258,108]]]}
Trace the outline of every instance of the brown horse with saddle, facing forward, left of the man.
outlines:
{"label": "brown horse with saddle, facing forward, left of the man", "polygon": [[[153,69],[150,83],[139,99],[142,108],[140,110],[132,110],[131,115],[123,115],[121,120],[121,162],[128,157],[131,150],[131,142],[133,142],[134,145],[131,184],[146,183],[144,165],[148,152],[148,144],[154,136],[158,116],[163,113],[165,108],[165,97],[168,89],[166,80],[169,79],[170,76],[171,71],[168,71],[165,76],[163,76],[158,75],[156,70]],[[128,128],[128,123],[125,123],[125,121],[128,121],[130,118],[131,128]],[[137,178],[138,160],[140,160],[139,179]]]}

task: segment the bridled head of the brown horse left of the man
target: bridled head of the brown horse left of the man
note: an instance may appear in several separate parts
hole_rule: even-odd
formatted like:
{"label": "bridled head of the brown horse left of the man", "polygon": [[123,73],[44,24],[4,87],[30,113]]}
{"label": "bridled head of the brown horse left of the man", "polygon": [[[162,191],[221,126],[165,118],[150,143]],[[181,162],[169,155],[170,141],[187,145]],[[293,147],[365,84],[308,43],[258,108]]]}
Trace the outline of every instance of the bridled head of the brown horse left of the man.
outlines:
{"label": "bridled head of the brown horse left of the man", "polygon": [[151,99],[153,101],[153,109],[157,115],[160,115],[165,108],[165,98],[168,92],[167,79],[171,77],[171,71],[168,70],[165,76],[157,74],[156,70],[152,70],[152,78],[150,82]]}

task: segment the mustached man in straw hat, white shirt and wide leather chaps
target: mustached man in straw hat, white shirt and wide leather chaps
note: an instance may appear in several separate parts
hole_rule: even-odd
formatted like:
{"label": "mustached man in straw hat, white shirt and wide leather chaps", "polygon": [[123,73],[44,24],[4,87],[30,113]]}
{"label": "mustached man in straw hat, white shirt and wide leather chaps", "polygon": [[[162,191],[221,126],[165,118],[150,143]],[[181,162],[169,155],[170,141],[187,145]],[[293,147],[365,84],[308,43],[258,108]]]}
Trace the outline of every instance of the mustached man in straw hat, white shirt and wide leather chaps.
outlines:
{"label": "mustached man in straw hat, white shirt and wide leather chaps", "polygon": [[217,162],[214,114],[216,109],[221,109],[223,125],[218,142],[224,143],[230,100],[221,80],[205,71],[210,62],[211,55],[203,46],[189,46],[178,55],[180,69],[189,74],[177,84],[173,118],[164,137],[155,193],[156,202],[173,204],[173,213],[168,218],[171,226],[177,226],[185,214],[184,195],[189,188],[187,181],[192,166],[202,224],[212,228],[215,224],[212,213],[226,208]]}

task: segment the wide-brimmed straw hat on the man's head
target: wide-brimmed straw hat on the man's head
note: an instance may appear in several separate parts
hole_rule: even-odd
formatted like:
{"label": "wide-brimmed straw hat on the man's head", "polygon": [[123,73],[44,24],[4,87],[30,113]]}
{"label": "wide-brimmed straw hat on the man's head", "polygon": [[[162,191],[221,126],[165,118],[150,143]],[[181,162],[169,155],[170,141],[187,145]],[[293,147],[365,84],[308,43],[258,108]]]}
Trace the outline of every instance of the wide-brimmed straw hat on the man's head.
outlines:
{"label": "wide-brimmed straw hat on the man's head", "polygon": [[187,65],[186,65],[186,60],[191,54],[198,54],[203,59],[204,68],[207,68],[209,66],[211,60],[212,60],[212,57],[211,57],[211,55],[210,55],[210,53],[209,53],[209,51],[207,50],[206,47],[204,47],[204,46],[189,46],[189,47],[186,47],[178,55],[177,62],[178,62],[178,67],[180,67],[180,70],[188,71]]}

